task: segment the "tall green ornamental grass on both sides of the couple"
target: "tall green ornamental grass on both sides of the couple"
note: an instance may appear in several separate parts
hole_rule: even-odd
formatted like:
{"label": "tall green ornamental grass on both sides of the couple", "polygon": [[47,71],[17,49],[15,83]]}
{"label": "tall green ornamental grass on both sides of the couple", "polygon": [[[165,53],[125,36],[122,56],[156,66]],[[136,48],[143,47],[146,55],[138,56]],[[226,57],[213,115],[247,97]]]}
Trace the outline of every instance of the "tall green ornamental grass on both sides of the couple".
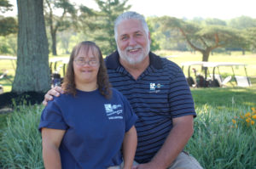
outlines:
{"label": "tall green ornamental grass on both sides of the couple", "polygon": [[[3,168],[44,168],[38,123],[43,106],[16,106],[8,115],[0,142]],[[205,169],[256,168],[255,126],[234,126],[234,119],[250,108],[233,105],[196,106],[195,132],[185,151]],[[1,135],[0,134],[0,135]],[[1,167],[1,166],[0,166]]]}

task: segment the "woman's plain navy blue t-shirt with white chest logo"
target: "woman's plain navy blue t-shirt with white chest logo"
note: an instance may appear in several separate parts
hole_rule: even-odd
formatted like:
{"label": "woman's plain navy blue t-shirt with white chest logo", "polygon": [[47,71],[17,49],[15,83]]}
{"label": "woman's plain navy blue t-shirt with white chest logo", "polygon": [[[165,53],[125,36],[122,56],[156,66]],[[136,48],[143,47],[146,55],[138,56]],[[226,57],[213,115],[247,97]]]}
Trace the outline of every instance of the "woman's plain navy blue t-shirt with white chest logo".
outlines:
{"label": "woman's plain navy blue t-shirt with white chest logo", "polygon": [[42,127],[66,130],[60,145],[62,168],[103,169],[122,162],[125,136],[137,120],[131,105],[117,90],[105,99],[99,90],[61,94],[43,110]]}

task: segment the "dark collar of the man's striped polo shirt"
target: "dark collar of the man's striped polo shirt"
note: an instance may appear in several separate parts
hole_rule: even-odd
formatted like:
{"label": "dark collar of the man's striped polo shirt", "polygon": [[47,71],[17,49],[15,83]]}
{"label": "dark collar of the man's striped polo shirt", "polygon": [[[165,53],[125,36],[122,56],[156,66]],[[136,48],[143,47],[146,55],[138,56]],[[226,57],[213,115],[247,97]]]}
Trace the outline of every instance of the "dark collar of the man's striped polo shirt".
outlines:
{"label": "dark collar of the man's striped polo shirt", "polygon": [[[150,66],[153,66],[155,69],[162,68],[162,62],[161,62],[160,56],[157,56],[152,52],[149,52],[149,64]],[[117,50],[106,58],[106,65],[108,69],[113,69],[113,70],[117,69],[119,66],[122,66],[120,65],[120,62],[119,62],[119,53]]]}

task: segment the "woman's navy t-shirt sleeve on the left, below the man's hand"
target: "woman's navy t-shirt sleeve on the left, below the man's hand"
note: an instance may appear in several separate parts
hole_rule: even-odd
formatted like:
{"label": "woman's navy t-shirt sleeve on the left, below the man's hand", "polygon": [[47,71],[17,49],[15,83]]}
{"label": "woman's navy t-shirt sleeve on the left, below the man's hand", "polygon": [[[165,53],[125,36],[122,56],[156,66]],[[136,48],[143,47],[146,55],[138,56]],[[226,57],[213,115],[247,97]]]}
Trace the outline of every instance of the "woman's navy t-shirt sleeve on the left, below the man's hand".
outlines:
{"label": "woman's navy t-shirt sleeve on the left, below the man's hand", "polygon": [[55,101],[50,101],[42,112],[38,130],[41,132],[43,127],[67,130],[67,124],[63,119],[61,109],[55,104]]}

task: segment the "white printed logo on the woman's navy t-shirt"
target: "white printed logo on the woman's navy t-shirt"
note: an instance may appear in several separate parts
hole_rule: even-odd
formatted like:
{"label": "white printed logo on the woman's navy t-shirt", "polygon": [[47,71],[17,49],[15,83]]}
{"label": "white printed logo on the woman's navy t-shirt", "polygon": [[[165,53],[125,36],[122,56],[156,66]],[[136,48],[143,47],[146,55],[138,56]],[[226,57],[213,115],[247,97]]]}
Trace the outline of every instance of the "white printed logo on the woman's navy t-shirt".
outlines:
{"label": "white printed logo on the woman's navy t-shirt", "polygon": [[106,115],[109,120],[123,119],[123,109],[121,104],[104,104]]}

